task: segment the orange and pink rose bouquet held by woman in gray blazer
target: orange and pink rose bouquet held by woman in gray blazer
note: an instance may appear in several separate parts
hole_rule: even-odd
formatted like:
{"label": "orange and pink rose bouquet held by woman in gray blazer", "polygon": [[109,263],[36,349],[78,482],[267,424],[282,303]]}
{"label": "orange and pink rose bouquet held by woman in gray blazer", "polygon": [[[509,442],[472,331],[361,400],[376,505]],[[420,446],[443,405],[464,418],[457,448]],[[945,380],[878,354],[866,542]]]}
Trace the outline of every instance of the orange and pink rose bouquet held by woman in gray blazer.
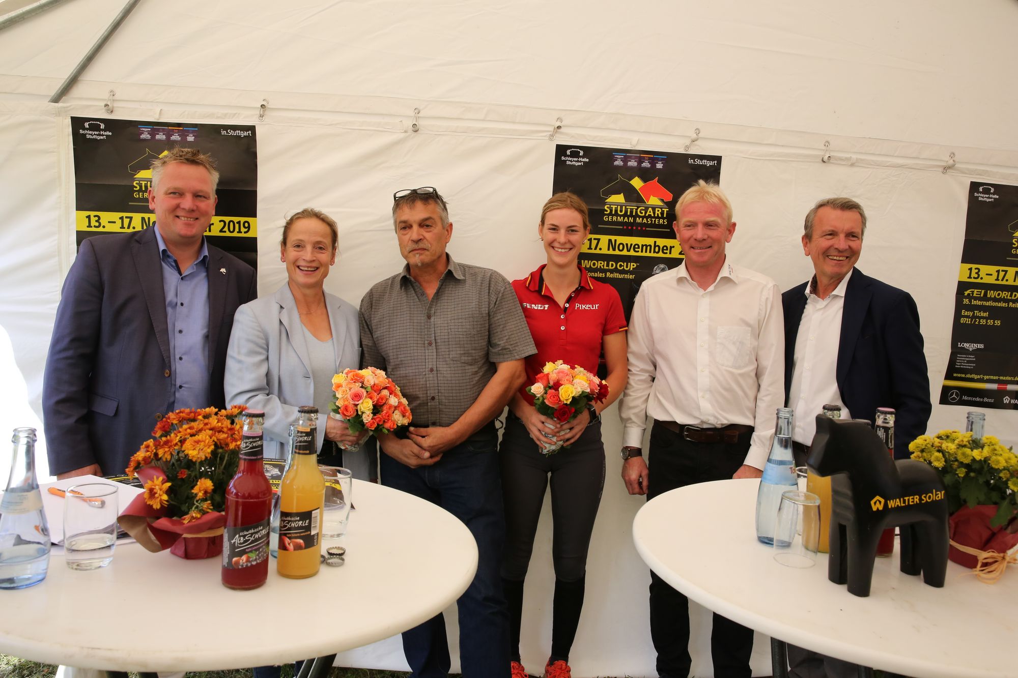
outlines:
{"label": "orange and pink rose bouquet held by woman in gray blazer", "polygon": [[329,408],[346,421],[350,432],[365,429],[376,436],[409,426],[410,407],[399,387],[377,368],[344,370],[332,378]]}

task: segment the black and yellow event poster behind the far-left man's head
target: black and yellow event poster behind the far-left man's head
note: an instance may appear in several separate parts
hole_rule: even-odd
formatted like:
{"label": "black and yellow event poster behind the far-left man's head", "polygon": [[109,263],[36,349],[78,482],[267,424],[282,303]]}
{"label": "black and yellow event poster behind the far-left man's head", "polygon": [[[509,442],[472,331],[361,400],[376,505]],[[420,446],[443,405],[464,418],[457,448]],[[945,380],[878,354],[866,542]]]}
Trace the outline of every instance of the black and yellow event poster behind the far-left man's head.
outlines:
{"label": "black and yellow event poster behind the far-left man's head", "polygon": [[258,148],[253,125],[143,122],[71,117],[77,244],[104,233],[148,228],[150,164],[174,147],[216,160],[210,244],[258,268]]}

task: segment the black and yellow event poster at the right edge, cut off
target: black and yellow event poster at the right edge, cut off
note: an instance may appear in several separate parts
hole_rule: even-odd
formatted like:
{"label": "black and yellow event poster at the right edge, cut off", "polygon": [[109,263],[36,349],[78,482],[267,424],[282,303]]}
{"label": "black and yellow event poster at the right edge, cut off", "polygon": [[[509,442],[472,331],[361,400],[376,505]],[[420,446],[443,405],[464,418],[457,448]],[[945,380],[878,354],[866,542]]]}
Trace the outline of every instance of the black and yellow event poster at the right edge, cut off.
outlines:
{"label": "black and yellow event poster at the right edge, cut off", "polygon": [[1018,186],[969,183],[942,405],[1018,408]]}

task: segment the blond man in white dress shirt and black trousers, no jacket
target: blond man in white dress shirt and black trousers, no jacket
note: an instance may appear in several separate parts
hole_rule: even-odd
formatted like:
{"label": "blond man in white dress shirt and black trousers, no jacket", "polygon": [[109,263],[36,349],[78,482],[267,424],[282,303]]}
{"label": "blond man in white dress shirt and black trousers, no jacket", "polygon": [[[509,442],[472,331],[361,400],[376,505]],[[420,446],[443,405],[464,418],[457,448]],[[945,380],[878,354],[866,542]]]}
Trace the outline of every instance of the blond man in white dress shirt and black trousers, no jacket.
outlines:
{"label": "blond man in white dress shirt and black trousers, no jacket", "polygon": [[[647,501],[694,483],[759,477],[784,402],[781,295],[773,280],[726,257],[731,204],[699,181],[675,212],[685,261],[648,278],[636,296],[621,406],[622,479]],[[649,467],[641,453],[648,415]],[[654,572],[651,635],[659,676],[686,678],[688,602]],[[748,678],[752,643],[751,629],[714,615],[714,675]]]}

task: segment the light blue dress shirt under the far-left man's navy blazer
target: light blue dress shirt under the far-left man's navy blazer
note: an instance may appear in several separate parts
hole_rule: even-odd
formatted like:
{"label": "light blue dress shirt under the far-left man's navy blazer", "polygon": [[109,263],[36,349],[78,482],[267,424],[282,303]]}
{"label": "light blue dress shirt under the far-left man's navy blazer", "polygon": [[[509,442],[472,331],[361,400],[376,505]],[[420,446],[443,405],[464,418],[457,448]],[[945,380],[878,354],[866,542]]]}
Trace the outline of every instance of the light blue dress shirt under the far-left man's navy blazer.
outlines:
{"label": "light blue dress shirt under the far-left man's navy blazer", "polygon": [[[152,228],[156,228],[153,226]],[[170,334],[173,395],[169,409],[211,405],[209,396],[209,247],[183,273],[156,228],[162,262],[166,327]]]}

